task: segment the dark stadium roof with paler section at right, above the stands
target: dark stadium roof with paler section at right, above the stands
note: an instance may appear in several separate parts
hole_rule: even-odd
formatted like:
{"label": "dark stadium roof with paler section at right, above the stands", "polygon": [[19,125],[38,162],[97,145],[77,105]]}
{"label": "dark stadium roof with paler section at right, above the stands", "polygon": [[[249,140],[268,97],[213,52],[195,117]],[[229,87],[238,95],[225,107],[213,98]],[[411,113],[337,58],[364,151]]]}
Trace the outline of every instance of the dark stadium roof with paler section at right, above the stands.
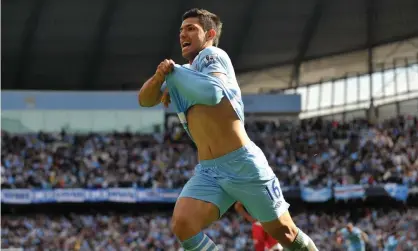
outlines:
{"label": "dark stadium roof with paler section at right, above the stands", "polygon": [[244,92],[366,73],[368,48],[374,65],[418,52],[417,0],[4,0],[2,89],[137,89],[182,62],[191,7],[223,20]]}

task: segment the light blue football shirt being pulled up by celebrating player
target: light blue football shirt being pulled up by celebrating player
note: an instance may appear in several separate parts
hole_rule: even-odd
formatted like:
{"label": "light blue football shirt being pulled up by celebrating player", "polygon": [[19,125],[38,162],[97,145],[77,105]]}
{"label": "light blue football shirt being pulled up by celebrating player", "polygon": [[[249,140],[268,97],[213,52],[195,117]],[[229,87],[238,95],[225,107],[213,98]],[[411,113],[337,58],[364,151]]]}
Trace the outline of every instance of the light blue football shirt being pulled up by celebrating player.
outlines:
{"label": "light blue football shirt being pulled up by celebrating player", "polygon": [[[211,76],[212,73],[225,74],[227,82]],[[172,73],[166,77],[164,88],[168,88],[171,102],[190,137],[186,114],[193,105],[216,105],[226,97],[244,122],[244,103],[235,70],[228,54],[220,48],[205,48],[191,65],[175,65]]]}

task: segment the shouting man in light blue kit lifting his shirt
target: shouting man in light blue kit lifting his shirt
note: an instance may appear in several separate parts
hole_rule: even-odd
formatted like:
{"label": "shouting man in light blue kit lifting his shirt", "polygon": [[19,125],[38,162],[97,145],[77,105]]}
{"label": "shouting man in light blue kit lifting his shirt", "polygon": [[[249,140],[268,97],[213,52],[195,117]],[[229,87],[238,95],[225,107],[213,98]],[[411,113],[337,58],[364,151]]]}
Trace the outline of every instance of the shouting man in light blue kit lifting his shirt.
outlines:
{"label": "shouting man in light blue kit lifting his shirt", "polygon": [[239,200],[287,250],[317,250],[295,226],[277,177],[245,131],[234,68],[226,52],[216,47],[221,31],[215,14],[187,11],[180,45],[189,65],[164,60],[139,91],[141,106],[173,102],[198,151],[195,175],[174,208],[173,232],[185,250],[217,250],[201,231]]}

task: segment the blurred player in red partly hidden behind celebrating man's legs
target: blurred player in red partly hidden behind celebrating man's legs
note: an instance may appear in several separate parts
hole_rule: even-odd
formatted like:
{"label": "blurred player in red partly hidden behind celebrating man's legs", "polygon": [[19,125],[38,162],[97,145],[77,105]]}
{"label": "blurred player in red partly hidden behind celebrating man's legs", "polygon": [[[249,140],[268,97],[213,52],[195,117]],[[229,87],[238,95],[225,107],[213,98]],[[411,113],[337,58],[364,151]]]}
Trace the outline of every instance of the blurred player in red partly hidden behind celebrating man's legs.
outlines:
{"label": "blurred player in red partly hidden behind celebrating man's legs", "polygon": [[279,244],[279,242],[264,231],[261,223],[255,220],[240,202],[236,202],[234,207],[242,217],[253,224],[252,234],[255,251],[265,251],[266,249],[269,251],[283,250],[283,247]]}

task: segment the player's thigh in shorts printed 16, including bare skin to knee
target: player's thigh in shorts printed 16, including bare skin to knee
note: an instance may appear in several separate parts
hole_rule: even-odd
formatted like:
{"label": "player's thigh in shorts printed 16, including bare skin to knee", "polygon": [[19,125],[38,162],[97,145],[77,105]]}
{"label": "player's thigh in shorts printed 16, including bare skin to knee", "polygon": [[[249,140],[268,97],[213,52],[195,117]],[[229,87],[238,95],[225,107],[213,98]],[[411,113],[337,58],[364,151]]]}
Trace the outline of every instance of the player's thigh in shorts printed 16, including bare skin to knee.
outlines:
{"label": "player's thigh in shorts printed 16, including bare skin to knee", "polygon": [[233,161],[222,163],[224,190],[240,201],[255,219],[260,221],[273,238],[284,246],[294,240],[297,228],[288,212],[280,182],[268,165],[263,152],[251,147]]}

